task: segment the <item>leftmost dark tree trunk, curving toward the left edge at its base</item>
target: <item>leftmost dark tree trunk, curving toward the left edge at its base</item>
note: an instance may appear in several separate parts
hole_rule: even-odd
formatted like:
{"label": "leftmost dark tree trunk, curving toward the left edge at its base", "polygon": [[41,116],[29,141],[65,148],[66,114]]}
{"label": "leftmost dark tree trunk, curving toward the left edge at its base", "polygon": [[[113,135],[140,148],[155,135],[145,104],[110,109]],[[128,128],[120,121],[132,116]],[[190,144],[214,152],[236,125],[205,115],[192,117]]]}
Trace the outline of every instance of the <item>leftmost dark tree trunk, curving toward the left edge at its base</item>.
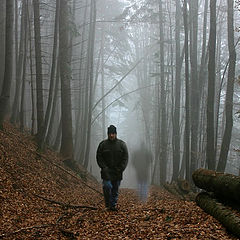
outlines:
{"label": "leftmost dark tree trunk, curving toward the left edge at its base", "polygon": [[10,89],[13,70],[13,22],[14,1],[6,1],[6,27],[5,27],[5,71],[0,96],[0,129],[3,129],[3,121],[9,108]]}

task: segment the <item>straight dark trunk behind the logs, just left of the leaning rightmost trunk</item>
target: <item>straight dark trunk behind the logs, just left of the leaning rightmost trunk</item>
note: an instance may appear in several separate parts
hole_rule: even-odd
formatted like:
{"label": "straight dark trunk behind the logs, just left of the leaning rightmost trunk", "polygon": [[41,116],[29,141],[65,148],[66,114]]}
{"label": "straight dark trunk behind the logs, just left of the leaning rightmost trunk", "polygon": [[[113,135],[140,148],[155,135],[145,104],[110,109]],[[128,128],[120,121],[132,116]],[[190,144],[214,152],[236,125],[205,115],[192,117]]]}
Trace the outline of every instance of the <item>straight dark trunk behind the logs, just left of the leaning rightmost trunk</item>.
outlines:
{"label": "straight dark trunk behind the logs, just left of the leaning rightmost trunk", "polygon": [[207,152],[208,168],[215,170],[215,49],[216,49],[216,0],[210,1],[210,36],[209,36],[209,62],[208,62],[208,96],[207,96]]}

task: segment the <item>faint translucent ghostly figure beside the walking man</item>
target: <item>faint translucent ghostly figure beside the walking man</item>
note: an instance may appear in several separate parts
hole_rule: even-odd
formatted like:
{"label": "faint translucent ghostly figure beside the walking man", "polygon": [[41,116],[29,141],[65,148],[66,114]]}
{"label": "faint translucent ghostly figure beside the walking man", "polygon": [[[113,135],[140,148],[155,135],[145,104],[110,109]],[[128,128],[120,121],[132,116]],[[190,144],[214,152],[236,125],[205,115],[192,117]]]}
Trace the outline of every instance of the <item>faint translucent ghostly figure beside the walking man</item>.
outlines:
{"label": "faint translucent ghostly figure beside the walking man", "polygon": [[139,149],[132,153],[132,164],[136,171],[138,181],[138,194],[140,200],[145,202],[148,195],[150,165],[152,161],[152,154],[144,144],[141,143]]}

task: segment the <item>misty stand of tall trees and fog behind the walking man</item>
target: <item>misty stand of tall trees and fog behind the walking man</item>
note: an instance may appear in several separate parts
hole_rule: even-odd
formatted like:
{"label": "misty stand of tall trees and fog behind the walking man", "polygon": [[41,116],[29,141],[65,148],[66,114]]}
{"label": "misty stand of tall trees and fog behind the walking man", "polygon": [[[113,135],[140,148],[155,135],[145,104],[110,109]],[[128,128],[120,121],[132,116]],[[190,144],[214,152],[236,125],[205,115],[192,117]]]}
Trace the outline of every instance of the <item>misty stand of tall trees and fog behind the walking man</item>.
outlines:
{"label": "misty stand of tall trees and fog behind the walking man", "polygon": [[152,153],[151,182],[239,174],[240,2],[0,1],[0,127],[36,135],[99,178],[110,124]]}

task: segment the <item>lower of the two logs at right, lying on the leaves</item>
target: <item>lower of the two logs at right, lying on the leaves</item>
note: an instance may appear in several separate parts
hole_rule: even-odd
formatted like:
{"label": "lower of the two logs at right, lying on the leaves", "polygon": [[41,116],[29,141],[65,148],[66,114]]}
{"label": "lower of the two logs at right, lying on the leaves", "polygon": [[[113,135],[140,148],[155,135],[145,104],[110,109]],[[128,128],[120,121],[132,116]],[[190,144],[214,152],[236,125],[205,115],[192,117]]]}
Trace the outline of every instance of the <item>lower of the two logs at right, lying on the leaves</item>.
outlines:
{"label": "lower of the two logs at right, lying on the leaves", "polygon": [[240,238],[240,218],[230,209],[212,198],[207,192],[201,192],[196,197],[196,203],[205,212],[217,219],[226,229]]}

